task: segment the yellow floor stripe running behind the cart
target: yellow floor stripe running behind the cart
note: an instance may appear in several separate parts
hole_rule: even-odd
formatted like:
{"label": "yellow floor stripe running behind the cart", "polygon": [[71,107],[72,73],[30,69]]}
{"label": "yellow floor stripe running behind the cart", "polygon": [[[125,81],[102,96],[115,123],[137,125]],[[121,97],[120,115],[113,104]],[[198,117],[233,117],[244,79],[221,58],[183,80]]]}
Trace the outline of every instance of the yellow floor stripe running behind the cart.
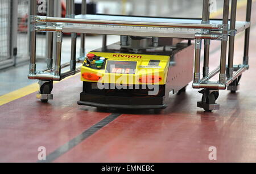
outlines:
{"label": "yellow floor stripe running behind the cart", "polygon": [[[256,0],[253,0],[253,2],[255,2],[255,1]],[[241,7],[246,6],[246,3],[247,3],[247,0],[238,1],[237,2],[237,9],[240,9]],[[211,13],[210,18],[216,18],[217,16],[222,15],[222,12],[223,12],[223,8],[217,10],[216,12]],[[80,74],[80,73],[78,73],[78,74]],[[73,76],[75,76],[75,75],[72,75],[72,76],[67,77],[65,79],[71,78]],[[65,80],[65,79],[63,79],[63,80]],[[58,83],[58,82],[54,82],[54,83]],[[38,90],[39,90],[39,84],[38,83],[33,83],[33,84],[30,84],[26,87],[20,88],[19,90],[10,92],[9,94],[0,96],[0,106],[3,105],[3,104],[9,103],[10,101],[19,99],[19,98],[21,98],[23,96],[26,96],[28,94],[31,94],[33,92],[36,92]]]}

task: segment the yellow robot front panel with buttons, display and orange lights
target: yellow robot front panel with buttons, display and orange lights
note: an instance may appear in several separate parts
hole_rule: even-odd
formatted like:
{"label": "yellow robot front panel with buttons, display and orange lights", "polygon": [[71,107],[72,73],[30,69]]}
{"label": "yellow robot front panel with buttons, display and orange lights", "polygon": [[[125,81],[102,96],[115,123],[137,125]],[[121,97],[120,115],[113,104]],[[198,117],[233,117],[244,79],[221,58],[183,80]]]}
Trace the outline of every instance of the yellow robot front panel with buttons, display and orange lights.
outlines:
{"label": "yellow robot front panel with buttons, display and orange lights", "polygon": [[86,82],[144,84],[157,77],[164,84],[170,56],[90,52],[81,67],[81,80]]}

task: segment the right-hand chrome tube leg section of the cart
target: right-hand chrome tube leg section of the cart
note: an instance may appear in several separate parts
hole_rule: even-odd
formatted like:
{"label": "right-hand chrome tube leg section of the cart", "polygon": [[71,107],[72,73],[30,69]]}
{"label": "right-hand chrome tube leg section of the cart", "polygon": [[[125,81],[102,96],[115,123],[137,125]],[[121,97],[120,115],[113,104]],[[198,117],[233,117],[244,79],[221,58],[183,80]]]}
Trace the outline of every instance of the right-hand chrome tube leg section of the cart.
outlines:
{"label": "right-hand chrome tube leg section of the cart", "polygon": [[[195,75],[193,88],[208,88],[211,90],[225,90],[226,87],[236,80],[246,69],[248,69],[248,50],[249,50],[249,33],[250,27],[245,29],[245,49],[242,65],[233,65],[234,60],[234,37],[236,36],[236,10],[237,10],[237,0],[231,0],[231,15],[230,15],[230,27],[228,26],[229,20],[229,0],[224,0],[224,11],[223,11],[223,28],[222,31],[213,31],[211,35],[220,35],[221,37],[221,62],[220,66],[214,69],[209,73],[209,41],[205,39],[206,37],[201,37],[205,39],[205,49],[204,49],[204,67],[203,67],[203,78],[198,80],[200,75],[200,70],[198,70],[198,61],[200,53],[196,50],[196,61],[195,61]],[[203,8],[203,20],[202,23],[205,24],[208,22],[208,0],[204,0]],[[246,22],[250,22],[251,14],[251,0],[247,0],[247,9],[246,9]],[[205,34],[204,34],[205,35]],[[207,34],[209,35],[209,34]],[[210,36],[210,35],[209,35]],[[229,55],[228,55],[228,67],[226,67],[226,49],[228,45],[229,37]],[[209,40],[212,38],[208,37]],[[215,38],[216,40],[216,38]],[[234,67],[238,67],[234,69]],[[236,70],[235,73],[233,71]],[[214,77],[217,73],[219,74],[218,82],[210,82],[209,79]],[[227,79],[226,79],[227,78]]]}

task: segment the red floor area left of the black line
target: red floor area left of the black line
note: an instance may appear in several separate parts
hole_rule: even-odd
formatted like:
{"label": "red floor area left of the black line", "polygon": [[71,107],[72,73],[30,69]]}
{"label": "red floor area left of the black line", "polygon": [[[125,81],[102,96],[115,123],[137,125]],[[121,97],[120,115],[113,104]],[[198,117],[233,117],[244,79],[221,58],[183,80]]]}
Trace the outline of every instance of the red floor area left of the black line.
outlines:
{"label": "red floor area left of the black line", "polygon": [[36,162],[39,146],[49,154],[110,114],[76,104],[79,78],[55,84],[48,104],[30,94],[0,107],[0,162]]}

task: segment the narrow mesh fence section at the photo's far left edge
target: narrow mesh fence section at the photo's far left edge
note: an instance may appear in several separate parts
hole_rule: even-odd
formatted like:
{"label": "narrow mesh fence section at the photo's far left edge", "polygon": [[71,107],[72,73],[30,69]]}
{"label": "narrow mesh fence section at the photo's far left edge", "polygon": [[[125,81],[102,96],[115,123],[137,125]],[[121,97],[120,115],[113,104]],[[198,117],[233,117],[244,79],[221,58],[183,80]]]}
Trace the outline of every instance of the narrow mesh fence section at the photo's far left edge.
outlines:
{"label": "narrow mesh fence section at the photo's far left edge", "polygon": [[11,1],[0,0],[0,62],[10,58]]}

